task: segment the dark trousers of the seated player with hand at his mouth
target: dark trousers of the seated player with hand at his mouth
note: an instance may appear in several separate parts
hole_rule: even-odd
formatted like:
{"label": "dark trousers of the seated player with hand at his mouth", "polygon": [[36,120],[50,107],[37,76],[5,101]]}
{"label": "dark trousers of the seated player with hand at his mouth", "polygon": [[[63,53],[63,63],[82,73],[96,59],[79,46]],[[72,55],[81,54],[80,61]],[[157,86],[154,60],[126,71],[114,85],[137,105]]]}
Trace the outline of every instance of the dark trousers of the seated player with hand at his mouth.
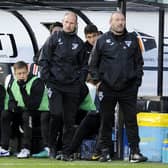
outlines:
{"label": "dark trousers of the seated player with hand at his mouth", "polygon": [[22,126],[23,147],[30,149],[32,138],[32,118],[28,112],[9,112],[3,111],[1,114],[1,144],[4,149],[9,148],[10,125],[16,122]]}

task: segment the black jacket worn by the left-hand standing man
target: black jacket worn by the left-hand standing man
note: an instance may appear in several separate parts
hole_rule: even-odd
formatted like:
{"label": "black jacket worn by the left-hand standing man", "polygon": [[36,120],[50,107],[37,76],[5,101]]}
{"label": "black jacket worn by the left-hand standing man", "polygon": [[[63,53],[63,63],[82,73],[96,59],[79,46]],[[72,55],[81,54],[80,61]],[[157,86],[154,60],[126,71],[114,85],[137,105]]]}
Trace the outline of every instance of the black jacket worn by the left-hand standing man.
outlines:
{"label": "black jacket worn by the left-hand standing man", "polygon": [[58,85],[84,82],[88,71],[85,53],[84,43],[75,33],[54,33],[44,44],[39,58],[41,78]]}

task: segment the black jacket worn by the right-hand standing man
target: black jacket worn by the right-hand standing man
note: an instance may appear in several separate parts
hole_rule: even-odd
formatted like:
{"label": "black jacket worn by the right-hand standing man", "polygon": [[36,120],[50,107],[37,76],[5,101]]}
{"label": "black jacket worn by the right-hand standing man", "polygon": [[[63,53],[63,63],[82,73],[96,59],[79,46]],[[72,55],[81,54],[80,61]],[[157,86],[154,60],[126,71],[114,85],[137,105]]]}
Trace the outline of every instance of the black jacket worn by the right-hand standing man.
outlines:
{"label": "black jacket worn by the right-hand standing man", "polygon": [[91,53],[90,73],[93,80],[103,81],[113,90],[135,82],[141,85],[143,57],[134,33],[102,35]]}

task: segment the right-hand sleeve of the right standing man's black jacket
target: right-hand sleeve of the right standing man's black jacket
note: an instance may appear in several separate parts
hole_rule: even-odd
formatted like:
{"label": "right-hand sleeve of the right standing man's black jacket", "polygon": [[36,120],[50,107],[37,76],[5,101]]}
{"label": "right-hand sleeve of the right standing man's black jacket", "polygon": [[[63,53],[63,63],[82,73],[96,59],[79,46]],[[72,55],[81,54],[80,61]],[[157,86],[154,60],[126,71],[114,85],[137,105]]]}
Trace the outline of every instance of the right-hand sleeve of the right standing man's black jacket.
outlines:
{"label": "right-hand sleeve of the right standing man's black jacket", "polygon": [[137,71],[136,84],[137,86],[141,86],[144,60],[143,60],[142,52],[139,46],[138,38],[136,38],[136,40],[137,40],[137,52],[135,56],[135,65],[136,65],[136,71]]}

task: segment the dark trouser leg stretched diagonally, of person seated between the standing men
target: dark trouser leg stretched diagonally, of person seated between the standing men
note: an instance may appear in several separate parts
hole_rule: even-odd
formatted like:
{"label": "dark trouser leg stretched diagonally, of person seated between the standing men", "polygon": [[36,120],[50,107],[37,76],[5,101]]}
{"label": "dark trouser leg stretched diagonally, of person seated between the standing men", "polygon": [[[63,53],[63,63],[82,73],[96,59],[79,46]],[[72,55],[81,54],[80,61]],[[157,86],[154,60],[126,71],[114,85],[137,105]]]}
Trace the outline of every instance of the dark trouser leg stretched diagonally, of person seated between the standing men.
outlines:
{"label": "dark trouser leg stretched diagonally, of person seated between the standing men", "polygon": [[80,123],[78,129],[75,131],[71,146],[69,148],[69,154],[77,151],[84,138],[91,138],[98,134],[100,127],[100,114],[90,112]]}

